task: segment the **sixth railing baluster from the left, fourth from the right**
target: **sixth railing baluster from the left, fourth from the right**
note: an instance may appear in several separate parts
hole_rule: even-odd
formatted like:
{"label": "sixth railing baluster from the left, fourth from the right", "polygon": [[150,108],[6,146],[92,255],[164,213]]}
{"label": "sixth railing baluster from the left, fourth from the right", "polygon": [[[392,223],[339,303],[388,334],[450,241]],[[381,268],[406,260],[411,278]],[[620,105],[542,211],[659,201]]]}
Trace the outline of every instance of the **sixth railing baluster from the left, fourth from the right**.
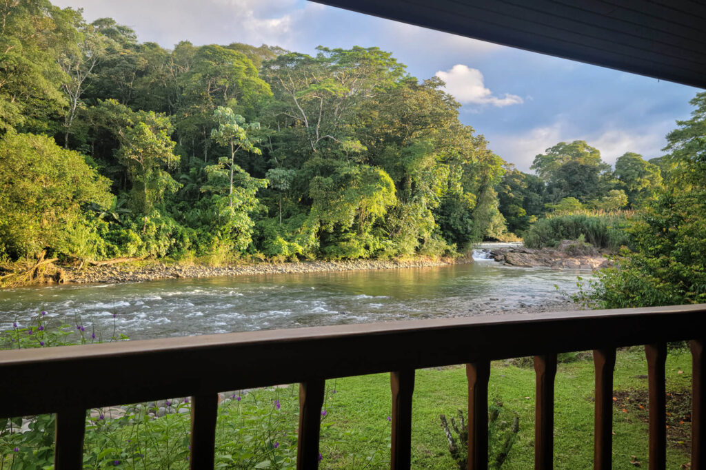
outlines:
{"label": "sixth railing baluster from the left, fourth from the right", "polygon": [[556,354],[534,356],[537,387],[534,409],[534,468],[554,466],[554,377]]}

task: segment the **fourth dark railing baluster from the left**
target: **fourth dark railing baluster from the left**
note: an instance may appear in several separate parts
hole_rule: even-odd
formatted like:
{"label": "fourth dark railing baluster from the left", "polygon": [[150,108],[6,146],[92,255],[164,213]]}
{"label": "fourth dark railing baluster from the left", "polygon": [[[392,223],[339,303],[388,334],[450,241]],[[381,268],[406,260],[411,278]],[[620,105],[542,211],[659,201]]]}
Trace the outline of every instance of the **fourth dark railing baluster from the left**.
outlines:
{"label": "fourth dark railing baluster from the left", "polygon": [[409,469],[412,464],[412,394],[414,369],[390,373],[393,392],[390,469]]}

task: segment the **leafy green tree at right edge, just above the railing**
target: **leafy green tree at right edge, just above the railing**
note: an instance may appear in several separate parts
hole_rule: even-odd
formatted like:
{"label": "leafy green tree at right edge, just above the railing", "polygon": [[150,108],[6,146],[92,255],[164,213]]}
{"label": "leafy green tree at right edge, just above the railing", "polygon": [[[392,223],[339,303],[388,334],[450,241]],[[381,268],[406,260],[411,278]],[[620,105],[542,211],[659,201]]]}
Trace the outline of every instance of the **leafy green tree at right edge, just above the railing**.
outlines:
{"label": "leafy green tree at right edge, just above the railing", "polygon": [[666,186],[630,228],[635,251],[580,300],[604,308],[706,301],[706,92],[691,103],[692,119],[667,135]]}

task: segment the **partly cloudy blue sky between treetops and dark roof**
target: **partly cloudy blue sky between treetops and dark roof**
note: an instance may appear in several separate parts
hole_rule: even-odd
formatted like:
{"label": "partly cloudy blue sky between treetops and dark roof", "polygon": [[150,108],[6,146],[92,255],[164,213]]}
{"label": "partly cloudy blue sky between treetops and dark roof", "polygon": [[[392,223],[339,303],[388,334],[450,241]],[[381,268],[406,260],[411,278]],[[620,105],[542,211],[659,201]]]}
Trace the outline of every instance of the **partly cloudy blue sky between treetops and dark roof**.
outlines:
{"label": "partly cloudy blue sky between treetops and dark roof", "polygon": [[625,152],[662,155],[664,135],[687,119],[696,88],[425,30],[303,0],[54,0],[131,26],[140,41],[172,47],[245,42],[313,54],[377,46],[419,79],[439,75],[460,118],[528,171],[534,155],[582,139],[606,162]]}

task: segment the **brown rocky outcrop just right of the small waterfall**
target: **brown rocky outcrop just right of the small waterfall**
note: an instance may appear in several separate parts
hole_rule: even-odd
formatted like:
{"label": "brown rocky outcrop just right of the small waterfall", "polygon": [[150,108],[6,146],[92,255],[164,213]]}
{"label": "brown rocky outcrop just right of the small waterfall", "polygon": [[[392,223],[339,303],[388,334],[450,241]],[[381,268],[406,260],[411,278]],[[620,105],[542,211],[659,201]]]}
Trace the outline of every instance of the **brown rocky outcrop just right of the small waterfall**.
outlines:
{"label": "brown rocky outcrop just right of the small waterfall", "polygon": [[563,240],[556,248],[532,249],[525,246],[490,251],[498,263],[522,267],[551,267],[555,270],[597,270],[611,265],[611,253],[580,241]]}

